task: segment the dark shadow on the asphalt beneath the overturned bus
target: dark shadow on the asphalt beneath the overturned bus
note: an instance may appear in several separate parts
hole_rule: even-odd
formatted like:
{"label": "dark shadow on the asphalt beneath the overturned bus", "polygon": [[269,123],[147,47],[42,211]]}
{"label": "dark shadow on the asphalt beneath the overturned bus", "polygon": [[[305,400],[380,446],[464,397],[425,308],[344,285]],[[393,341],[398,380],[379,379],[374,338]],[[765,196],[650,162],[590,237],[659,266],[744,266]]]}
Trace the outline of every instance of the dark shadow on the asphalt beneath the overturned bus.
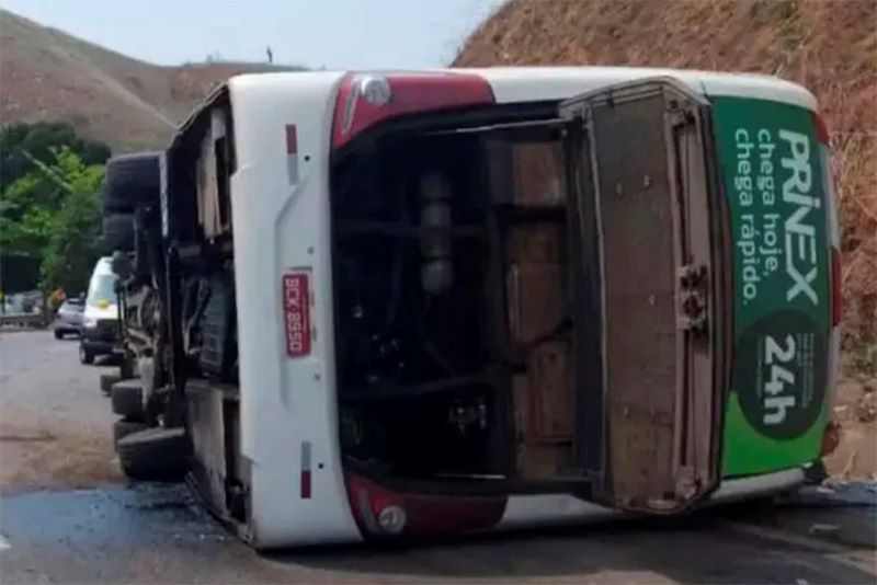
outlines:
{"label": "dark shadow on the asphalt beneath the overturned bus", "polygon": [[269,558],[323,570],[429,581],[573,576],[577,581],[665,578],[681,583],[875,581],[873,573],[855,563],[836,560],[835,553],[819,547],[736,531],[729,527],[729,514],[734,521],[759,521],[762,511],[614,520],[579,528],[480,535],[409,546],[287,551]]}

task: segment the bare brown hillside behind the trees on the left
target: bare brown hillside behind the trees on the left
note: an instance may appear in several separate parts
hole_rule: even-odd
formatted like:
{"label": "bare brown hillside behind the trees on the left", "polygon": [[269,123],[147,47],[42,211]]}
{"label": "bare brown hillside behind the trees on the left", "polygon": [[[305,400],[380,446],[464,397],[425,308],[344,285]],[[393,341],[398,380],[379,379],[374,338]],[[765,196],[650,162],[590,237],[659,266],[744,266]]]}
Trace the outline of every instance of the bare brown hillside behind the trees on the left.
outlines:
{"label": "bare brown hillside behind the trees on the left", "polygon": [[0,121],[64,119],[114,151],[159,147],[216,84],[266,64],[160,67],[0,10]]}

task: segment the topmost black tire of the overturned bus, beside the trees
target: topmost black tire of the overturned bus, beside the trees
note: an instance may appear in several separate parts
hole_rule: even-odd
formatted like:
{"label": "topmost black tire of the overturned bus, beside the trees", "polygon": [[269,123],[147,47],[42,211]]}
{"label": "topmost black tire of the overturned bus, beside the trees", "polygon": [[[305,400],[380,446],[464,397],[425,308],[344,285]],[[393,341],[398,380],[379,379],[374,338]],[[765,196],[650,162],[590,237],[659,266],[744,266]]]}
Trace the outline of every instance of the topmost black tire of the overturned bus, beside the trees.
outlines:
{"label": "topmost black tire of the overturned bus, beside the trees", "polygon": [[129,214],[140,205],[157,204],[161,188],[159,152],[125,154],[106,161],[104,213]]}

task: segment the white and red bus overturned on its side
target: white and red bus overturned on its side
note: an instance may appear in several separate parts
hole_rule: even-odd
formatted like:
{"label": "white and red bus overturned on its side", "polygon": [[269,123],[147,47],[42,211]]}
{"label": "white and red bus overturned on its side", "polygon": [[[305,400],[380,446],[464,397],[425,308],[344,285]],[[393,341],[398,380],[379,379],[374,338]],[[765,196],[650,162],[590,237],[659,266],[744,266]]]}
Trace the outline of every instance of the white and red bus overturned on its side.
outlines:
{"label": "white and red bus overturned on its side", "polygon": [[259,548],[679,514],[820,457],[838,226],[798,85],[242,76],[160,160],[119,458]]}

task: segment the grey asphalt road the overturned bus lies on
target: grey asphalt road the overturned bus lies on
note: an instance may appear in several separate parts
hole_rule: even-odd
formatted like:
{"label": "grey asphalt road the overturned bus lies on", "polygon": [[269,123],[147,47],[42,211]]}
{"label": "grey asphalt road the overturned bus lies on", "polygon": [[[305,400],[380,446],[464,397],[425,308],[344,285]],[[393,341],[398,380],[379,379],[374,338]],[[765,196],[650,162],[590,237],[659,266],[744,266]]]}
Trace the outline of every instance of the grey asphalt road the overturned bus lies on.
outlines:
{"label": "grey asphalt road the overturned bus lies on", "polygon": [[4,584],[877,580],[877,507],[825,502],[260,555],[217,526],[184,487],[128,485],[117,475],[101,371],[77,363],[75,342],[46,332],[0,333]]}

